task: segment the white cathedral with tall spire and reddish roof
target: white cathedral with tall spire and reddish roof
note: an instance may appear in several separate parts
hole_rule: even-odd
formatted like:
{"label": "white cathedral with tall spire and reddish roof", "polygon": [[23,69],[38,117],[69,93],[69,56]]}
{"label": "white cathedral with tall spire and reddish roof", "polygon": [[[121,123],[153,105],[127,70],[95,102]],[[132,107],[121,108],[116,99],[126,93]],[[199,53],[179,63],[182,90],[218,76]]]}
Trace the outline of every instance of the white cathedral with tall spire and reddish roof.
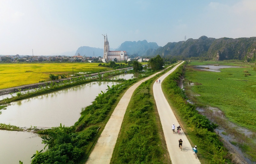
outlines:
{"label": "white cathedral with tall spire and reddish roof", "polygon": [[127,60],[127,52],[126,51],[109,51],[109,43],[108,43],[108,36],[106,34],[104,36],[104,54],[102,62],[106,63],[108,61],[114,61],[115,59],[117,61],[119,60]]}

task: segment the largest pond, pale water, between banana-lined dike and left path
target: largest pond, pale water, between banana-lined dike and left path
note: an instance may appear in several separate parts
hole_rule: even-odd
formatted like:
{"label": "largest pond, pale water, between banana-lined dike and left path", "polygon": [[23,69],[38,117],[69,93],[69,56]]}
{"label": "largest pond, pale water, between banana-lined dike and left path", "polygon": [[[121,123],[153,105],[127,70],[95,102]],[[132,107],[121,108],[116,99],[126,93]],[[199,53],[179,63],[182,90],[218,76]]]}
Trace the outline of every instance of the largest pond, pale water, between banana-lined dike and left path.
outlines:
{"label": "largest pond, pale water, between banana-lined dike and left path", "polygon": [[106,92],[108,86],[116,84],[91,82],[12,102],[7,109],[1,110],[0,123],[27,128],[57,127],[60,123],[72,126],[83,107],[91,105],[101,91]]}

